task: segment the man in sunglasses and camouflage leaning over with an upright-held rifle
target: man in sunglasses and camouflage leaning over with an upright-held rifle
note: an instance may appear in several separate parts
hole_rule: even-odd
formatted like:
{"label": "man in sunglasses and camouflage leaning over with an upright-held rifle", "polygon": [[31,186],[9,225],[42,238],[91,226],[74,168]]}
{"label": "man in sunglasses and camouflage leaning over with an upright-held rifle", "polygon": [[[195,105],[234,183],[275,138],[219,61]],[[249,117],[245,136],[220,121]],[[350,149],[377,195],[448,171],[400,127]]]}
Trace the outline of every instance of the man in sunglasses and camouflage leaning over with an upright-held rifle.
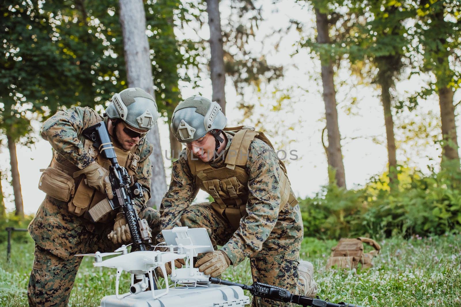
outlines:
{"label": "man in sunglasses and camouflage leaning over with an upright-held rifle", "polygon": [[155,100],[142,89],[130,88],[114,94],[111,102],[107,118],[77,106],[43,123],[41,136],[53,147],[53,159],[39,183],[47,196],[29,225],[35,241],[30,306],[66,306],[82,261],[75,254],[113,251],[131,240],[126,219],[118,210],[107,210],[97,223],[89,218],[92,207],[113,195],[107,171],[110,162],[83,137],[84,129],[106,121],[119,164],[132,182],[142,185],[144,197],[134,199],[140,218],[147,220],[154,235],[159,231],[160,213],[146,207],[153,146],[145,135],[157,121]]}

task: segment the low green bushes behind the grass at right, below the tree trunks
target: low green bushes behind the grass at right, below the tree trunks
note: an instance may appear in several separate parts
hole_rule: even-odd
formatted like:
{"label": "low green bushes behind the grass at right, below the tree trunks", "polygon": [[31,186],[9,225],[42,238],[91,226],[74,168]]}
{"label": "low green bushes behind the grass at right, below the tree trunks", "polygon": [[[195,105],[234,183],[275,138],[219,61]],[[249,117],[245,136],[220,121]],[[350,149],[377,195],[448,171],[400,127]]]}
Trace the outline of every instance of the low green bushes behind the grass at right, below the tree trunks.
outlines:
{"label": "low green bushes behind the grass at right, below the tree trunks", "polygon": [[423,236],[461,230],[461,173],[454,162],[429,176],[399,173],[390,191],[387,174],[372,178],[363,189],[334,184],[300,201],[304,235],[318,238],[353,236]]}

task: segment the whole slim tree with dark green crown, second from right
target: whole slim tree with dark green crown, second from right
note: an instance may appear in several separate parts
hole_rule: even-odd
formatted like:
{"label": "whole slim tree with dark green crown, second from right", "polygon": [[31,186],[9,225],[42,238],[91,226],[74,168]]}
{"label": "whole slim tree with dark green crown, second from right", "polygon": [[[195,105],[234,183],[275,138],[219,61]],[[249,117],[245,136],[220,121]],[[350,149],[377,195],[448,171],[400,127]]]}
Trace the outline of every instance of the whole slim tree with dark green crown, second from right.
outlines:
{"label": "whole slim tree with dark green crown, second from right", "polygon": [[[346,37],[342,44],[353,64],[366,63],[372,69],[366,71],[372,75],[374,83],[381,89],[386,147],[388,152],[390,189],[398,185],[396,142],[392,110],[396,105],[391,89],[404,67],[405,51],[408,47],[408,29],[404,24],[412,18],[408,3],[393,0],[352,1],[351,13],[362,16],[365,22],[357,25],[357,33]],[[408,62],[408,61],[407,61]],[[365,65],[363,65],[365,66]],[[364,71],[362,71],[364,73]]]}

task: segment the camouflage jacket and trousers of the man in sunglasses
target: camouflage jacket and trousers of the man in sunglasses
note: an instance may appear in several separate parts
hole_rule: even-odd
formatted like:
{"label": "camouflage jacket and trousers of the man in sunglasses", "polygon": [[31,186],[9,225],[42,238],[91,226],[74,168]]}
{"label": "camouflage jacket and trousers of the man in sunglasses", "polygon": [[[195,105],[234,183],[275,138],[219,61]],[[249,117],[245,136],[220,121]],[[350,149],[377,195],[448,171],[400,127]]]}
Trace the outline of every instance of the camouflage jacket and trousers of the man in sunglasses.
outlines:
{"label": "camouflage jacket and trousers of the man in sunglasses", "polygon": [[[102,120],[88,107],[74,107],[48,118],[41,136],[50,142],[54,158],[59,163],[70,161],[82,169],[94,161],[83,148],[82,132]],[[117,145],[114,142],[114,146]],[[140,161],[133,177],[144,192],[143,200],[135,199],[136,207],[141,209],[140,218],[146,218],[156,234],[160,231],[160,213],[146,207],[152,176],[148,156],[152,148],[145,138],[140,140],[134,152]],[[47,195],[29,225],[30,236],[35,241],[35,260],[28,287],[31,306],[65,306],[81,262],[81,257],[74,255],[112,251],[119,246],[107,239],[113,219],[109,224],[92,223],[69,213],[67,207],[67,202]],[[113,217],[115,214],[112,213]]]}

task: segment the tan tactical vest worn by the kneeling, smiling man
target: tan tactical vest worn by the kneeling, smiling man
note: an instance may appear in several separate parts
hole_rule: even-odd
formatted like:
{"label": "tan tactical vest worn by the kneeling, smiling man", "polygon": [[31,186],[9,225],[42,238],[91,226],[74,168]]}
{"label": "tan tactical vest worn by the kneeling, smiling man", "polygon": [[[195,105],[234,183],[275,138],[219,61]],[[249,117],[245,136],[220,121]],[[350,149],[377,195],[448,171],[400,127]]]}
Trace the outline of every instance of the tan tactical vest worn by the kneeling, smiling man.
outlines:
{"label": "tan tactical vest worn by the kneeling, smiling man", "polygon": [[[247,215],[246,204],[248,201],[248,174],[245,165],[248,159],[250,143],[254,138],[268,144],[272,143],[264,133],[254,131],[253,127],[238,126],[225,128],[225,132],[233,136],[231,146],[225,157],[225,166],[214,168],[198,158],[192,159],[190,151],[186,148],[187,162],[195,184],[213,197],[213,208],[227,218],[234,229],[240,224],[240,219]],[[278,182],[280,186],[279,211],[289,204],[295,207],[298,201],[290,187],[290,181],[284,163],[279,159],[280,168]]]}

